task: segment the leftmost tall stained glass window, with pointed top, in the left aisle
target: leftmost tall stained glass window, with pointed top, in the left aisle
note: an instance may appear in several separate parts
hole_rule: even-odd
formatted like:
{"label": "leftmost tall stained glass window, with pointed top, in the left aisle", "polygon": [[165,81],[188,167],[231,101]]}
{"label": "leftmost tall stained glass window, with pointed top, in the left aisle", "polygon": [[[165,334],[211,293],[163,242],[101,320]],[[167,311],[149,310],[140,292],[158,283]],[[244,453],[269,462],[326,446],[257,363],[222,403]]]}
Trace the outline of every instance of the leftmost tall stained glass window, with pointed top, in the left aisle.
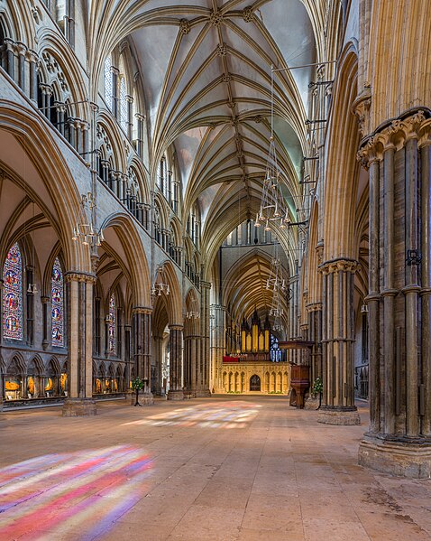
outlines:
{"label": "leftmost tall stained glass window, with pointed top, in the left aisle", "polygon": [[23,257],[17,243],[6,256],[3,280],[3,335],[23,340]]}

